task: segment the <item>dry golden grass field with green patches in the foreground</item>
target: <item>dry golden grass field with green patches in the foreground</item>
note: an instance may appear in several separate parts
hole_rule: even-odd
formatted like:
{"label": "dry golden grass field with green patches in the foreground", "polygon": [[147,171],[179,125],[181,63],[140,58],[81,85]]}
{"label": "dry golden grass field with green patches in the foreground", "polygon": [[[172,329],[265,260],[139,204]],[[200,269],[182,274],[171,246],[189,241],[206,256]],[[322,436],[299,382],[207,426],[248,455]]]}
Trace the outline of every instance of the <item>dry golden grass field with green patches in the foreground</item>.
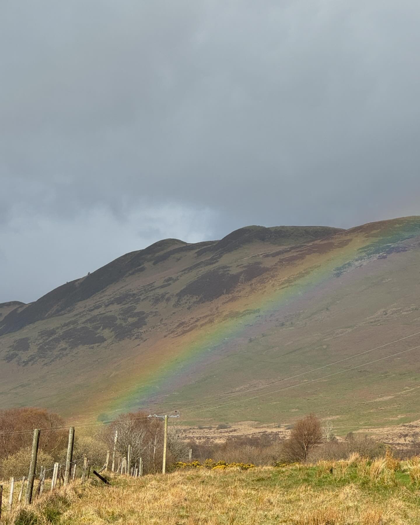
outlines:
{"label": "dry golden grass field with green patches in the foreground", "polygon": [[418,459],[320,462],[316,466],[183,469],[112,486],[90,480],[49,493],[5,523],[420,523]]}

